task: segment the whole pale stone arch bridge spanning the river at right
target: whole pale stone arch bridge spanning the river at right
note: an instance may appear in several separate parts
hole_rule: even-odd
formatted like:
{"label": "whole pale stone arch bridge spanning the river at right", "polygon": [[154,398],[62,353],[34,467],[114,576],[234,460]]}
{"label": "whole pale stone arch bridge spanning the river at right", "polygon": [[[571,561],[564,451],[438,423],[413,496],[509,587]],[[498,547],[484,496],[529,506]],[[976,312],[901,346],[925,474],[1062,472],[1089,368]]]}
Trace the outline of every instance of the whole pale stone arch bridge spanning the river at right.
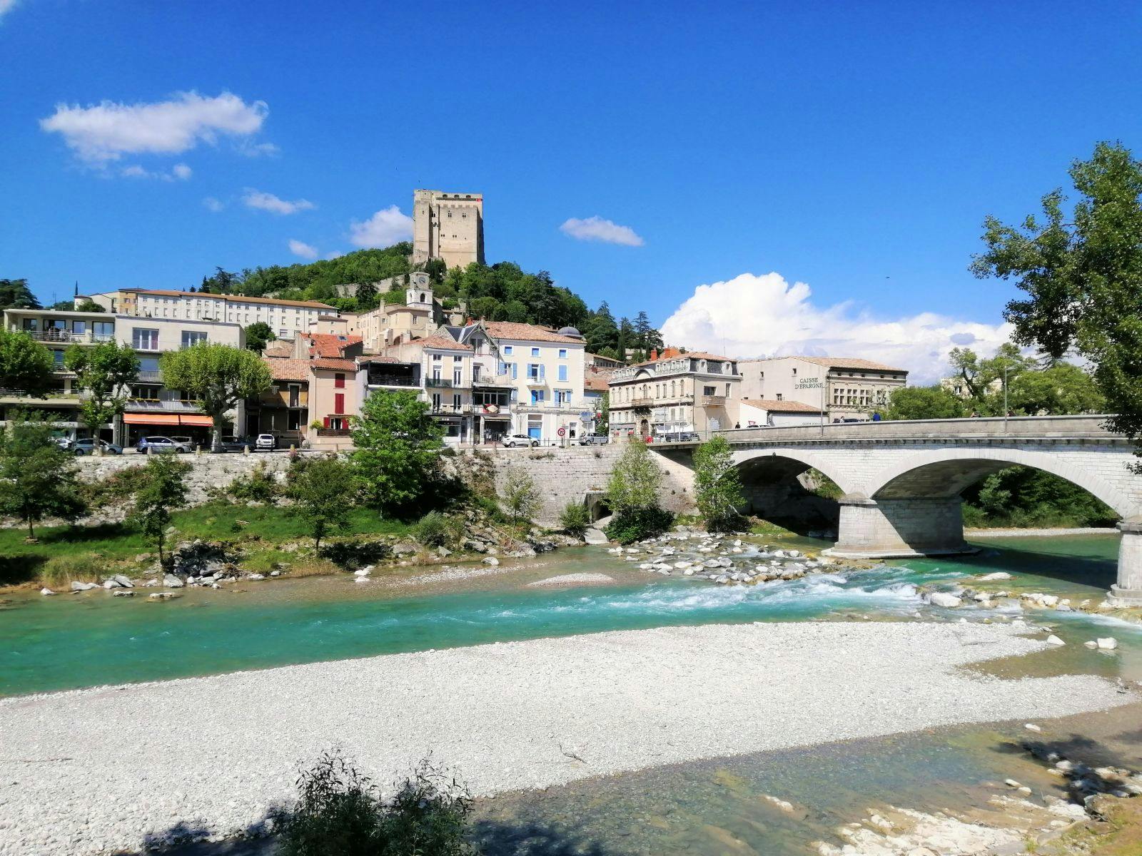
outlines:
{"label": "whole pale stone arch bridge spanning the river at right", "polygon": [[[1107,417],[1013,417],[855,422],[722,431],[748,483],[814,468],[842,490],[833,555],[860,558],[968,551],[959,494],[996,470],[1035,467],[1086,488],[1120,517],[1111,600],[1142,605],[1142,475]],[[692,451],[656,451],[685,462]]]}

